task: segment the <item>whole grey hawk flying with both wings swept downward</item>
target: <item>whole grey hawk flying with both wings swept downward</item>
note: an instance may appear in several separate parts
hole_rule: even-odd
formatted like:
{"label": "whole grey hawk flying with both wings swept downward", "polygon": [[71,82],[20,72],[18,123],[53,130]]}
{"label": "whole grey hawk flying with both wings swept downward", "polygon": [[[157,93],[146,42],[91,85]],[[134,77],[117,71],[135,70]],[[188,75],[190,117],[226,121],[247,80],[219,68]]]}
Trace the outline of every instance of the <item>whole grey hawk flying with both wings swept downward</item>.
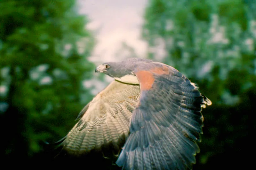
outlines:
{"label": "whole grey hawk flying with both wings swept downward", "polygon": [[[192,169],[211,101],[175,68],[142,58],[107,62],[115,80],[79,113],[61,145],[82,156],[111,147],[123,169]],[[108,150],[109,152],[109,150]]]}

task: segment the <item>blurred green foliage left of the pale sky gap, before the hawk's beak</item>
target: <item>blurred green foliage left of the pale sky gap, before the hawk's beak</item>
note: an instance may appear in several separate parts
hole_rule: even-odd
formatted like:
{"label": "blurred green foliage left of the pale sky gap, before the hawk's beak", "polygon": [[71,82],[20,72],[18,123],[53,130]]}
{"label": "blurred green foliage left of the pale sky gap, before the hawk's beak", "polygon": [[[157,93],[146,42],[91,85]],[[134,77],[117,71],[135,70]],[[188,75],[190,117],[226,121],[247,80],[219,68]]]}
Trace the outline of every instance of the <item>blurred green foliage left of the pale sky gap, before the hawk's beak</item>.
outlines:
{"label": "blurred green foliage left of the pale sky gap, before the hawk's beak", "polygon": [[94,46],[75,0],[0,1],[1,155],[30,158],[74,126],[91,99]]}

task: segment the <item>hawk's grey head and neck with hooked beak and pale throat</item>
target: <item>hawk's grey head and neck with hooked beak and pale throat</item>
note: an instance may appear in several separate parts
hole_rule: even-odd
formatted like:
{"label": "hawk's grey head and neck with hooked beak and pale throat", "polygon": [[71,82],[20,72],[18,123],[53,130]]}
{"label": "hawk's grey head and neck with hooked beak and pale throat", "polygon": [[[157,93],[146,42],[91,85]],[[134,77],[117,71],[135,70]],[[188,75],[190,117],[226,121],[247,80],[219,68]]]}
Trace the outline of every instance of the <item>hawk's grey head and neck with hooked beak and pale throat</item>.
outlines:
{"label": "hawk's grey head and neck with hooked beak and pale throat", "polygon": [[139,84],[134,70],[138,64],[142,62],[151,62],[142,58],[127,58],[121,62],[106,62],[96,67],[95,72],[107,74],[115,78],[117,81],[130,84]]}

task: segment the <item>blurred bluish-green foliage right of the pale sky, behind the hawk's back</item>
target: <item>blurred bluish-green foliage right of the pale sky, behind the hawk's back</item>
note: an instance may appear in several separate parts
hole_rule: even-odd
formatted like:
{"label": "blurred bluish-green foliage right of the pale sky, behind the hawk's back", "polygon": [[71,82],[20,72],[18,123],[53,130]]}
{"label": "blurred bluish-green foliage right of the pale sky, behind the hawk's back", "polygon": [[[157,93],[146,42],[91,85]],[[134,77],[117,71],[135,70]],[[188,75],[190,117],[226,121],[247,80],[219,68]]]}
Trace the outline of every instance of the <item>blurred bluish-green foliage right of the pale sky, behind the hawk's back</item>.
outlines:
{"label": "blurred bluish-green foliage right of the pale sky, behind the hawk's back", "polygon": [[149,58],[163,58],[213,103],[203,110],[196,169],[247,161],[256,124],[255,7],[254,0],[149,0],[146,8]]}

